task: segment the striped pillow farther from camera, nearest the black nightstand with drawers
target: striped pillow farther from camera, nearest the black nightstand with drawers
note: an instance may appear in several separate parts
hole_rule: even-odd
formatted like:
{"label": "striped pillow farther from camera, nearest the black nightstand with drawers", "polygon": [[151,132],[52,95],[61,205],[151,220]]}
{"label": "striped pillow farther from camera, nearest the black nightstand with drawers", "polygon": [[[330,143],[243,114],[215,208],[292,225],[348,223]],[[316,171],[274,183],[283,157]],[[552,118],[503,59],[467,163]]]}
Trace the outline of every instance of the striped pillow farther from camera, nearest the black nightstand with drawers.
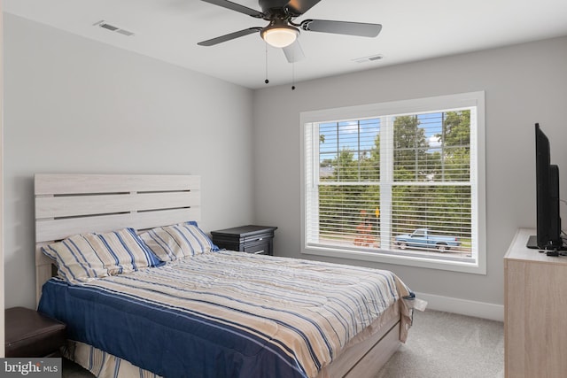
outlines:
{"label": "striped pillow farther from camera, nearest the black nightstand with drawers", "polygon": [[162,261],[218,251],[218,247],[194,221],[152,228],[140,234],[140,238]]}

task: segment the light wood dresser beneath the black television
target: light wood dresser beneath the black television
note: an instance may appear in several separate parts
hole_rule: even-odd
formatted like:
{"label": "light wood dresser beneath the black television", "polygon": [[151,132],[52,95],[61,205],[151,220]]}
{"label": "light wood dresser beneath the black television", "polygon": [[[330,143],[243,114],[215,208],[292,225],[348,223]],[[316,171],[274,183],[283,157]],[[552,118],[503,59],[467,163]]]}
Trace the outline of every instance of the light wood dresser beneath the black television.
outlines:
{"label": "light wood dresser beneath the black television", "polygon": [[525,246],[521,228],[504,257],[507,378],[567,377],[567,256]]}

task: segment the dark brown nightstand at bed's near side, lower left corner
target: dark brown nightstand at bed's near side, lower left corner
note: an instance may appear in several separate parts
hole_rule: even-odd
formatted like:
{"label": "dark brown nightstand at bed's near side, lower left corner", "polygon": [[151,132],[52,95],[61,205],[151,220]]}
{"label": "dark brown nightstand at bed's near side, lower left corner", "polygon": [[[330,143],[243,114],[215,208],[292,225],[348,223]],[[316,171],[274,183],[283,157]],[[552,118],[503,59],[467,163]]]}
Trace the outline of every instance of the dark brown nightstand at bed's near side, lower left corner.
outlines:
{"label": "dark brown nightstand at bed's near side, lower left corner", "polygon": [[65,324],[24,307],[4,312],[6,357],[58,357]]}

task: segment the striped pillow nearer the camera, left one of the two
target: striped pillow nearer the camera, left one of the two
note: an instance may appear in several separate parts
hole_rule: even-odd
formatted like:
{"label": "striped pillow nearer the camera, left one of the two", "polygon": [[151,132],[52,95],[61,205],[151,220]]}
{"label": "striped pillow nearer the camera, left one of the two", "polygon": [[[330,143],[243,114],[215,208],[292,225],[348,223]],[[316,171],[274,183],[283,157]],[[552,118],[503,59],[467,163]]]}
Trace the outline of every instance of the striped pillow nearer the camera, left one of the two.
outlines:
{"label": "striped pillow nearer the camera, left one of the two", "polygon": [[42,247],[42,251],[57,262],[58,275],[71,283],[163,264],[133,228],[74,235]]}

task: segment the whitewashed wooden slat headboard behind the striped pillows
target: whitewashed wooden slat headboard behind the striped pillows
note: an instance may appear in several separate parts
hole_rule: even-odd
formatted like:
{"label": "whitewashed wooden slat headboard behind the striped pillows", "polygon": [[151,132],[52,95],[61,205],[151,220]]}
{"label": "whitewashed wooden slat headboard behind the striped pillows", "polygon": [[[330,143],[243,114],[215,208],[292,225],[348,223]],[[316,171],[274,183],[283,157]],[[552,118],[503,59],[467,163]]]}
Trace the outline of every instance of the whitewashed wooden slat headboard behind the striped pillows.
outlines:
{"label": "whitewashed wooden slat headboard behind the striped pillows", "polygon": [[35,174],[35,294],[52,276],[42,245],[86,232],[200,220],[200,176]]}

